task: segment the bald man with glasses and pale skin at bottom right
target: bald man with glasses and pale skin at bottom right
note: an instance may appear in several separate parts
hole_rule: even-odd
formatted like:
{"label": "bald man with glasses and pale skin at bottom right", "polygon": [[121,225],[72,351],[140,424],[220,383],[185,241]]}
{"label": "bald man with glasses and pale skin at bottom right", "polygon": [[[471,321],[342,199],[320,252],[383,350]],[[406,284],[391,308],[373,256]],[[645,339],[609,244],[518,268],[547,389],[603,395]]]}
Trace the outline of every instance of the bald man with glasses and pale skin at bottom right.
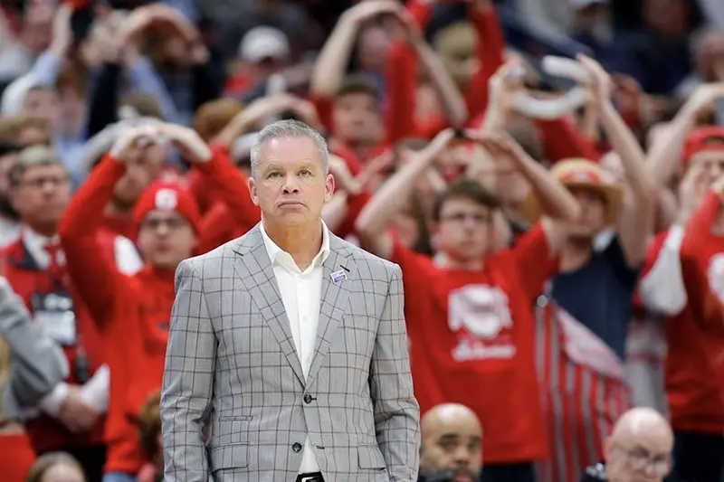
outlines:
{"label": "bald man with glasses and pale skin at bottom right", "polygon": [[581,482],[662,482],[672,470],[672,449],[672,428],[658,411],[626,411],[605,441],[605,464],[588,468]]}

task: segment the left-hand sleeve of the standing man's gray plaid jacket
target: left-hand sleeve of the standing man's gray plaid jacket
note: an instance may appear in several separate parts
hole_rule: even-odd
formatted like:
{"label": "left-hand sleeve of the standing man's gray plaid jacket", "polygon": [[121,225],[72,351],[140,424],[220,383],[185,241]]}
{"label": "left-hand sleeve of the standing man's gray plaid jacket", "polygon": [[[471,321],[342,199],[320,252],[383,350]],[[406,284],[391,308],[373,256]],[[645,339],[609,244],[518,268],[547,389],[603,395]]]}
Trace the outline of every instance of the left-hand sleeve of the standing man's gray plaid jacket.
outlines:
{"label": "left-hand sleeve of the standing man's gray plaid jacket", "polygon": [[164,480],[208,482],[205,427],[211,411],[216,336],[194,260],[176,269],[161,394]]}

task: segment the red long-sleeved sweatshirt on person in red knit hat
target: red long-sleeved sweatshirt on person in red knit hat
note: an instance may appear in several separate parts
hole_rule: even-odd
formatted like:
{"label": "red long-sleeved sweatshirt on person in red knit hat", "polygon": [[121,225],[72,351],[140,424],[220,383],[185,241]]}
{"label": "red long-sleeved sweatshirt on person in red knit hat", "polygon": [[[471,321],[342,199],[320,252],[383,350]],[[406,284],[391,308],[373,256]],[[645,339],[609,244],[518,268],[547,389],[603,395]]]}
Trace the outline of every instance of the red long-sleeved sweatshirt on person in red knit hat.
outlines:
{"label": "red long-sleeved sweatshirt on person in red knit hat", "polygon": [[[198,165],[208,184],[229,201],[234,213],[246,209],[249,196],[238,195],[239,173],[214,151],[214,158]],[[110,367],[110,406],[106,425],[109,445],[107,471],[136,473],[143,458],[138,447],[138,418],[148,394],[163,378],[168,321],[174,302],[174,271],[142,269],[126,276],[110,262],[94,235],[113,186],[126,166],[106,156],[75,194],[61,226],[67,268],[106,340]],[[248,211],[248,210],[247,210]],[[236,222],[243,222],[243,214]],[[204,233],[200,233],[204,244]]]}

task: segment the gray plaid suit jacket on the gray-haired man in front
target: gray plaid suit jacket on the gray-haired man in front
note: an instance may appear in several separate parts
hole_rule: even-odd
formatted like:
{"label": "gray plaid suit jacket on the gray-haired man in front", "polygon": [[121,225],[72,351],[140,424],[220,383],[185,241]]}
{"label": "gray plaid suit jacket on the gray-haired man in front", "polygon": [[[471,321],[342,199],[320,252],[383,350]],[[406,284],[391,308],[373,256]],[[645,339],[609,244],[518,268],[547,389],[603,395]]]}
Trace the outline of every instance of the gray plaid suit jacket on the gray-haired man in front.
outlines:
{"label": "gray plaid suit jacket on the gray-haired man in front", "polygon": [[[306,382],[258,225],[176,269],[161,400],[167,482],[293,481],[308,434],[330,482],[416,480],[401,271],[329,238]],[[337,271],[347,279],[333,282]]]}

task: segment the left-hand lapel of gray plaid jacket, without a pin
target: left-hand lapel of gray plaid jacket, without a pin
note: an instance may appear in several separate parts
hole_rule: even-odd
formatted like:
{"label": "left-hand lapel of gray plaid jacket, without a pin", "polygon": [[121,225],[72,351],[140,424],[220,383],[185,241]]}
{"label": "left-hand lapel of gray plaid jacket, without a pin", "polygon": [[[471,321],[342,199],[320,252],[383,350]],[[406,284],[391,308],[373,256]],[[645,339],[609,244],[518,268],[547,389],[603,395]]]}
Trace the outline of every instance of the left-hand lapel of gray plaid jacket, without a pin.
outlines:
{"label": "left-hand lapel of gray plaid jacket, without a pin", "polygon": [[294,374],[304,385],[300,357],[294,345],[294,338],[291,336],[289,318],[284,309],[284,302],[281,300],[279,285],[274,276],[269,253],[264,246],[262,232],[259,231],[259,224],[239,240],[234,251],[240,256],[234,261],[233,269],[241,279],[243,287],[252,297],[252,302],[256,304],[256,307],[262,312],[262,317],[269,324],[271,333],[279,342],[281,352],[291,364]]}

